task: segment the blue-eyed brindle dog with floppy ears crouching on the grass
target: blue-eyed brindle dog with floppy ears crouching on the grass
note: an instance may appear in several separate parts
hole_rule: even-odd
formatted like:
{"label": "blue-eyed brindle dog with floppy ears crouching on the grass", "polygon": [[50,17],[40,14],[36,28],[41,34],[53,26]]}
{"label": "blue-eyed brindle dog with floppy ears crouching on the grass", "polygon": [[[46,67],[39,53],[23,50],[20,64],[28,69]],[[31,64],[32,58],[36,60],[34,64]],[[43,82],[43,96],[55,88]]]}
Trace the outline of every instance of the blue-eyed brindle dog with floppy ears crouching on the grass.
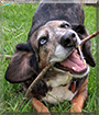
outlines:
{"label": "blue-eyed brindle dog with floppy ears crouching on the grass", "polygon": [[91,43],[78,48],[88,36],[85,14],[79,3],[40,3],[28,42],[15,46],[6,79],[22,83],[26,91],[37,74],[51,62],[54,65],[31,91],[32,104],[37,112],[48,112],[40,99],[57,104],[67,100],[70,112],[81,112],[88,96],[89,66],[95,67]]}

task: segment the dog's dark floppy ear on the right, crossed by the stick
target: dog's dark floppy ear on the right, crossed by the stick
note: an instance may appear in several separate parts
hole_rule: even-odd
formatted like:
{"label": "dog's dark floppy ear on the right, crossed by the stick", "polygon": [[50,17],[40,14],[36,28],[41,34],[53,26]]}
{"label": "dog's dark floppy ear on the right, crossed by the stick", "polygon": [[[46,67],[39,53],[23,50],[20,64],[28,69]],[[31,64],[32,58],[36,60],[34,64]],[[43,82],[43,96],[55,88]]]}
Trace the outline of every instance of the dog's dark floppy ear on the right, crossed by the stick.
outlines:
{"label": "dog's dark floppy ear on the right, crossed by the stick", "polygon": [[[84,39],[85,37],[88,36],[87,30],[84,25],[78,25],[78,24],[73,24],[73,30],[77,32],[79,35],[80,39]],[[88,41],[82,45],[82,54],[85,56],[85,59],[87,64],[89,64],[91,67],[96,66],[92,53],[91,53],[91,42]]]}

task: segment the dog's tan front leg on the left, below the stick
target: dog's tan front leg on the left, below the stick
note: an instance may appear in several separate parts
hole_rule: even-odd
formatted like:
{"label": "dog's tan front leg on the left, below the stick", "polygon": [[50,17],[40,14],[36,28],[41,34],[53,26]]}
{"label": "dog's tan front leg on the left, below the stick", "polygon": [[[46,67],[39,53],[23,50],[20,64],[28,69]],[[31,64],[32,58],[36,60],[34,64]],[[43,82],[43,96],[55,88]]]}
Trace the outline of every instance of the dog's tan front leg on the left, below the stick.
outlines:
{"label": "dog's tan front leg on the left, below the stick", "polygon": [[[37,113],[50,113],[48,108],[37,99],[32,97],[32,105],[34,106]],[[48,115],[48,114],[47,114]]]}

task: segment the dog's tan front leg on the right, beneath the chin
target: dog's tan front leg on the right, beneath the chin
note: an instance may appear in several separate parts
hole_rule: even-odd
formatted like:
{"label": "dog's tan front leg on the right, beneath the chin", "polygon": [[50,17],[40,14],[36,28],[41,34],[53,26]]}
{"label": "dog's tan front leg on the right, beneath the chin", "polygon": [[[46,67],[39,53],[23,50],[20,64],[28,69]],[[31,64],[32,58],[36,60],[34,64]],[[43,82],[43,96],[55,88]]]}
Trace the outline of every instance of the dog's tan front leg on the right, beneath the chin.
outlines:
{"label": "dog's tan front leg on the right, beneath the chin", "polygon": [[88,82],[88,77],[82,83],[82,85],[80,87],[77,95],[73,99],[72,101],[73,105],[72,105],[70,112],[77,112],[77,113],[81,112],[84,103],[88,96],[87,82]]}

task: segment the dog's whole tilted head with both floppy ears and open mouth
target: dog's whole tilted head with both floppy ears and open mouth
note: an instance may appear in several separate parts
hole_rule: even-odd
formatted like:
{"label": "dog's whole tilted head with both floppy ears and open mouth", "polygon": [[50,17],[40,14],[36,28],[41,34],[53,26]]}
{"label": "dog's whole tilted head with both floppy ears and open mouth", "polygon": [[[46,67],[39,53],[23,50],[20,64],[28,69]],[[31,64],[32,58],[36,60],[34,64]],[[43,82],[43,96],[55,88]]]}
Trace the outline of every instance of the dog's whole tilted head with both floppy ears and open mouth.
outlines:
{"label": "dog's whole tilted head with both floppy ears and open mouth", "polygon": [[[76,48],[80,39],[86,37],[84,25],[70,25],[66,21],[50,21],[35,31],[28,43],[16,45],[6,72],[6,79],[10,82],[23,82],[37,73],[50,62],[58,71],[69,72],[75,77],[84,77],[88,73],[88,66],[82,62]],[[82,47],[82,54],[90,66],[95,60],[90,50],[90,41]]]}

